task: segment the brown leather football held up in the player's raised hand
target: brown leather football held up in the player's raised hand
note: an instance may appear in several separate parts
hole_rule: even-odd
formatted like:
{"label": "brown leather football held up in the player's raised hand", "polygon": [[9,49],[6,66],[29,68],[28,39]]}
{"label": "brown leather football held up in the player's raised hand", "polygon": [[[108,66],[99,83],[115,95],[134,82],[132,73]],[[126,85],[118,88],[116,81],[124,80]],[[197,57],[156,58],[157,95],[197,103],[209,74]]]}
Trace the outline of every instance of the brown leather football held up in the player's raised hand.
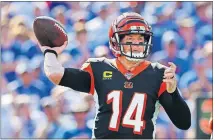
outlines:
{"label": "brown leather football held up in the player's raised hand", "polygon": [[51,17],[37,17],[33,22],[33,29],[41,46],[60,47],[65,41],[68,41],[63,26]]}

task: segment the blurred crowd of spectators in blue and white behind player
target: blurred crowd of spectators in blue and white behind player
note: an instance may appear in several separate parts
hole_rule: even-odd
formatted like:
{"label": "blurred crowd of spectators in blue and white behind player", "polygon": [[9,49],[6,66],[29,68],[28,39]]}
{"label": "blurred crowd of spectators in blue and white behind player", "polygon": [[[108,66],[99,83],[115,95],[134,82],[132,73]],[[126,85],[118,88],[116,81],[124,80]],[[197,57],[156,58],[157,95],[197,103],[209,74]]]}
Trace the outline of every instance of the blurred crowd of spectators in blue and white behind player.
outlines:
{"label": "blurred crowd of spectators in blue and white behind player", "polygon": [[178,86],[192,113],[191,128],[182,131],[161,107],[156,137],[195,138],[196,98],[212,97],[212,2],[1,2],[2,138],[91,137],[93,97],[46,78],[33,21],[38,16],[60,21],[69,44],[59,60],[80,68],[89,57],[113,58],[110,23],[127,11],[152,25],[148,59],[177,65]]}

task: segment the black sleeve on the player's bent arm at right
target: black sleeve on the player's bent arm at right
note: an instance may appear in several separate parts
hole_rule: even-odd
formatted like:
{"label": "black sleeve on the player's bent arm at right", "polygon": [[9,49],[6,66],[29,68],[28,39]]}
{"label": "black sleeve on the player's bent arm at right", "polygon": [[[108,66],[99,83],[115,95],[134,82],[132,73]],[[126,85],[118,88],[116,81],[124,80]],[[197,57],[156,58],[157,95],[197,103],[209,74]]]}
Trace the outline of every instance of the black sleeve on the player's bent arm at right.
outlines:
{"label": "black sleeve on the player's bent arm at right", "polygon": [[183,130],[190,128],[190,109],[180,96],[178,89],[172,94],[169,94],[167,91],[165,91],[159,97],[159,102],[164,107],[166,113],[176,127]]}

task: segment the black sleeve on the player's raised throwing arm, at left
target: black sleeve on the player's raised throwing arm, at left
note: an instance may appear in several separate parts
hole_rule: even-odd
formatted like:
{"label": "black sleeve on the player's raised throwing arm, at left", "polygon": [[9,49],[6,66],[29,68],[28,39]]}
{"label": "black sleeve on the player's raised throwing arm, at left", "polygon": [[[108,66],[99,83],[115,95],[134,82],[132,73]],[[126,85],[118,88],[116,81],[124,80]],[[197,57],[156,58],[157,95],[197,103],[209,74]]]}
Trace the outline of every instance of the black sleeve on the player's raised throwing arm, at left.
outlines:
{"label": "black sleeve on the player's raised throwing arm, at left", "polygon": [[90,74],[74,68],[65,68],[64,75],[59,83],[61,86],[87,93],[90,92],[90,84]]}

